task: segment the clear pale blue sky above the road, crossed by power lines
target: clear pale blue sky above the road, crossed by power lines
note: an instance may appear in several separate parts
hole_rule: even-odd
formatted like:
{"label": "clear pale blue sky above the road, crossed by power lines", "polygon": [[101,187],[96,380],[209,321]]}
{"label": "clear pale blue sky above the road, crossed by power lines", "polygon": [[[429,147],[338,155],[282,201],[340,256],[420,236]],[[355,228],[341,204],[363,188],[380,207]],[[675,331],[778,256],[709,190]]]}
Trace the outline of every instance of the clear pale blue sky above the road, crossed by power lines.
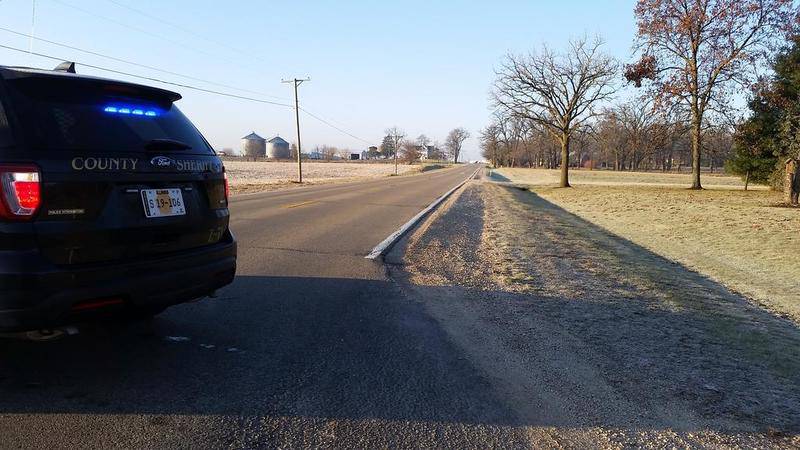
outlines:
{"label": "clear pale blue sky above the road, crossed by power lines", "polygon": [[[118,3],[118,4],[115,4]],[[173,27],[137,14],[136,8]],[[390,126],[444,140],[489,121],[494,67],[507,52],[599,34],[606,51],[630,59],[634,2],[562,1],[236,1],[36,0],[39,38],[113,55],[261,94],[137,68],[51,44],[35,52],[277,102],[292,98],[282,78],[310,76],[301,106],[370,143]],[[30,33],[32,0],[0,0],[0,26]],[[27,38],[0,31],[3,45]],[[0,64],[50,68],[53,61],[0,49]],[[125,78],[78,66],[82,73]],[[147,82],[147,84],[156,84]],[[156,84],[157,85],[157,84]],[[238,148],[255,130],[294,140],[291,109],[187,89],[179,102],[215,148]],[[267,97],[266,95],[274,96]],[[301,117],[303,146],[362,149],[366,143]],[[470,159],[478,143],[466,143]]]}

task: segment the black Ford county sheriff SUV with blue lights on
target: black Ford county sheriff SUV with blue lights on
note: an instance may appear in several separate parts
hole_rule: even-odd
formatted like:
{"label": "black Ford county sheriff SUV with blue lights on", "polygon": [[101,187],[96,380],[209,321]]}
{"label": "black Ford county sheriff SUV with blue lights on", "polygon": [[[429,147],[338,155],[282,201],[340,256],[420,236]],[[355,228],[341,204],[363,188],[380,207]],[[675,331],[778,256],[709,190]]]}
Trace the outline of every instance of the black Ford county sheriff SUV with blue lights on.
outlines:
{"label": "black Ford county sheriff SUV with blue lights on", "polygon": [[225,169],[180,98],[0,66],[0,331],[154,315],[232,282]]}

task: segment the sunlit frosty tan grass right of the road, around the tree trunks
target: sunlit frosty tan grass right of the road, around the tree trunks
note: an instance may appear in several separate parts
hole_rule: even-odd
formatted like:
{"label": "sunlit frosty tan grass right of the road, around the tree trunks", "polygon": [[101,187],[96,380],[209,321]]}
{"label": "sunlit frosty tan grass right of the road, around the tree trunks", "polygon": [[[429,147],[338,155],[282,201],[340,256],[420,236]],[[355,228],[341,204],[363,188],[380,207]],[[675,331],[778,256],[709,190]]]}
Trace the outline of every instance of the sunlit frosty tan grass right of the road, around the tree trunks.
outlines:
{"label": "sunlit frosty tan grass right of the road, around the tree trunks", "polygon": [[800,210],[776,207],[779,193],[733,190],[740,183],[733,177],[706,176],[706,189],[691,191],[683,188],[686,175],[606,171],[575,171],[574,188],[559,189],[555,173],[499,169],[496,178],[530,185],[545,200],[800,321]]}

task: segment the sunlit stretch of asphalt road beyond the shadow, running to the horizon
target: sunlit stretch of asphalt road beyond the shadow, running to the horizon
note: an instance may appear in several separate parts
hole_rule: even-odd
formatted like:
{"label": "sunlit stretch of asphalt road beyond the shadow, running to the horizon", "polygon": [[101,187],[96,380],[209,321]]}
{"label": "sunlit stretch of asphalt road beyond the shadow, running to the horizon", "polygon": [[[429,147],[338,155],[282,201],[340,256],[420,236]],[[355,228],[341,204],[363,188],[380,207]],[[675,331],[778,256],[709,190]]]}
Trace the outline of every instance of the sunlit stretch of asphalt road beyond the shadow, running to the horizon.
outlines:
{"label": "sunlit stretch of asphalt road beyond the shadow, running to the horizon", "polygon": [[412,176],[234,197],[231,228],[239,273],[354,277],[378,243],[477,168],[463,165]]}

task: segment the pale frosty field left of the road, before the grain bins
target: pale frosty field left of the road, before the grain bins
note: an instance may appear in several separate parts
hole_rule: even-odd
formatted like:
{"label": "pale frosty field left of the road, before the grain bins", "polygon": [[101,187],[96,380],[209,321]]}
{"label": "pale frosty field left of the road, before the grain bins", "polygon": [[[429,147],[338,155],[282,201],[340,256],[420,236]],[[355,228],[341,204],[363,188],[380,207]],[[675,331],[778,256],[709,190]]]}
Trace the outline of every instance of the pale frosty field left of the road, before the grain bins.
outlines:
{"label": "pale frosty field left of the road, before the grain bins", "polygon": [[[398,172],[419,172],[423,166],[401,164]],[[297,179],[297,163],[266,161],[225,161],[225,170],[234,194],[278,189],[291,185]],[[394,174],[394,164],[349,162],[303,162],[303,182],[307,184],[332,183]]]}

